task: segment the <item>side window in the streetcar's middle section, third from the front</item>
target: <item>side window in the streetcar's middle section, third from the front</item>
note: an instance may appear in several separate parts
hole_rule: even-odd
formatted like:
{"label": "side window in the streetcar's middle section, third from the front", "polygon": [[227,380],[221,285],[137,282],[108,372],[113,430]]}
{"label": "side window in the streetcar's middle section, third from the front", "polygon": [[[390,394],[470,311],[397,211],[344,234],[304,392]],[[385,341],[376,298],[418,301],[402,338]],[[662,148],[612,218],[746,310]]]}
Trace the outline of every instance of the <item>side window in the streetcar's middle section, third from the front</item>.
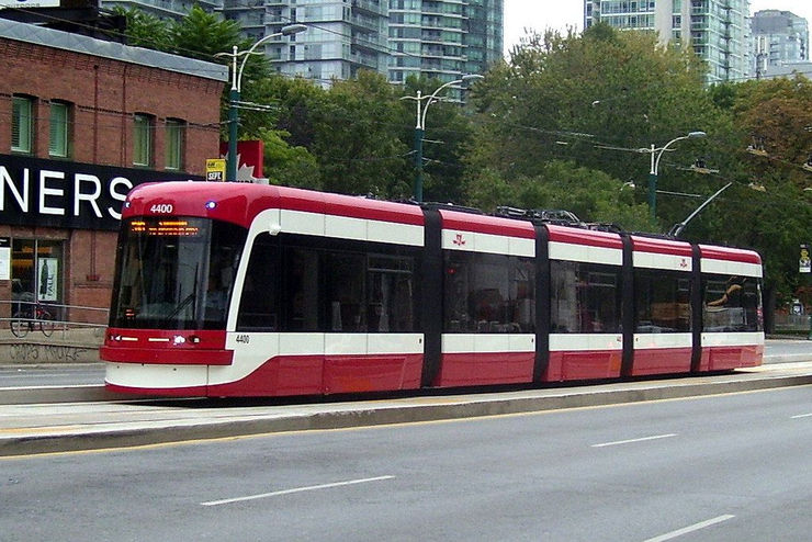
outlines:
{"label": "side window in the streetcar's middle section, third from the front", "polygon": [[552,332],[620,331],[620,268],[552,260],[550,285]]}

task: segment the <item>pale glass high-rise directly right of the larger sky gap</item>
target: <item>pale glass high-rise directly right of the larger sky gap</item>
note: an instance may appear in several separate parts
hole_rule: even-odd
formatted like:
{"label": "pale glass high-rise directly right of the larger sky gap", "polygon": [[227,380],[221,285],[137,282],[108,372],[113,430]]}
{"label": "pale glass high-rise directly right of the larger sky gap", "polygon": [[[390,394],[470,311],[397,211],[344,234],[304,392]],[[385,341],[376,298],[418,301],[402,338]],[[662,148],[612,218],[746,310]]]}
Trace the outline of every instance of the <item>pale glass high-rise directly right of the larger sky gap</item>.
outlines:
{"label": "pale glass high-rise directly right of the larger sky gap", "polygon": [[708,81],[749,75],[749,0],[584,0],[584,27],[656,32],[662,43],[690,46],[708,63]]}

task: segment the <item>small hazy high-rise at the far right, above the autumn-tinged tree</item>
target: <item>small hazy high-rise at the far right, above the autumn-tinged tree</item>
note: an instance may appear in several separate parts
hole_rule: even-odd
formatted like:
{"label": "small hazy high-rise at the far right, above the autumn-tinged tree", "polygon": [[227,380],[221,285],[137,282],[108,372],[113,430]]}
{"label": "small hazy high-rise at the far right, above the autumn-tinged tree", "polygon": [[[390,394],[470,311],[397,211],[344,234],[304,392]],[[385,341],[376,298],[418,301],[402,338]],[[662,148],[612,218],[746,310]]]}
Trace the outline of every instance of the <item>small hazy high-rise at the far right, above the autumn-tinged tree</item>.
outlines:
{"label": "small hazy high-rise at the far right, above the autumn-tinged tree", "polygon": [[752,20],[753,72],[757,77],[809,60],[809,22],[789,11],[757,11]]}

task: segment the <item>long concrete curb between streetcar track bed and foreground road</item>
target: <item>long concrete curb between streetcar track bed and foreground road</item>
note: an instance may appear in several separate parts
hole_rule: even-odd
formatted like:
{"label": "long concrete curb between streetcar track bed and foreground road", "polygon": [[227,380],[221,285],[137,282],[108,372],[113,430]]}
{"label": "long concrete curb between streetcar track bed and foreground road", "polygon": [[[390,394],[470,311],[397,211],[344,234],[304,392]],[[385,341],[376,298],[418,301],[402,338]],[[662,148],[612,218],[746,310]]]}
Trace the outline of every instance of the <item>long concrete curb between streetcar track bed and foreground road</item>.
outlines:
{"label": "long concrete curb between streetcar track bed and foreground road", "polygon": [[[749,373],[723,376],[649,381],[576,388],[544,388],[507,393],[410,397],[340,404],[318,404],[292,409],[268,406],[259,416],[246,417],[240,408],[224,409],[217,419],[162,420],[115,429],[104,424],[74,431],[45,429],[25,436],[0,436],[0,456],[102,450],[190,440],[287,431],[341,429],[419,421],[450,420],[534,413],[645,400],[674,399],[734,392],[812,384],[812,374]],[[98,393],[98,386],[82,386]],[[30,391],[29,391],[30,392]],[[101,399],[104,400],[104,399]],[[30,403],[30,400],[29,400]]]}

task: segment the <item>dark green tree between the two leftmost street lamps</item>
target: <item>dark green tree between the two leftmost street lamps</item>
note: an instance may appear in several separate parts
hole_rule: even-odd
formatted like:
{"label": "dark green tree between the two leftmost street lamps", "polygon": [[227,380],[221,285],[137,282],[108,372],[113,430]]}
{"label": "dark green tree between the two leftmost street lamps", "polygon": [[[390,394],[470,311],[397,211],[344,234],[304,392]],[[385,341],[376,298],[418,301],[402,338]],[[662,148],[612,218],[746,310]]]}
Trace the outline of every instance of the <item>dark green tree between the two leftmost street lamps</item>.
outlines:
{"label": "dark green tree between the two leftmost street lamps", "polygon": [[271,124],[246,126],[246,132],[268,136],[275,131],[274,151],[282,153],[283,163],[285,156],[295,157],[287,163],[295,163],[302,176],[278,170],[280,163],[271,159],[269,178],[330,192],[408,197],[409,147],[399,137],[405,121],[395,88],[383,76],[361,71],[327,90],[303,79],[271,77],[258,82],[256,92],[258,101],[278,111]]}

